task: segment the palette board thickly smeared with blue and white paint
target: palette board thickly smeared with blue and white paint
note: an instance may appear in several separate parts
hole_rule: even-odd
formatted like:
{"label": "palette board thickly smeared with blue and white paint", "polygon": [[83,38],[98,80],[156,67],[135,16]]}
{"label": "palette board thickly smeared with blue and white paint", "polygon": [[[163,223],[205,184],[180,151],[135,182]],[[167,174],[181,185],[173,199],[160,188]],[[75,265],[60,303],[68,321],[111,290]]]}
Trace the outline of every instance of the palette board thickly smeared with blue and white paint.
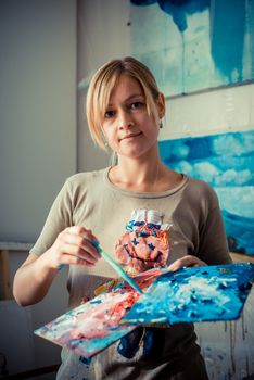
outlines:
{"label": "palette board thickly smeared with blue and white paint", "polygon": [[122,324],[198,322],[240,317],[254,264],[193,267],[160,276]]}

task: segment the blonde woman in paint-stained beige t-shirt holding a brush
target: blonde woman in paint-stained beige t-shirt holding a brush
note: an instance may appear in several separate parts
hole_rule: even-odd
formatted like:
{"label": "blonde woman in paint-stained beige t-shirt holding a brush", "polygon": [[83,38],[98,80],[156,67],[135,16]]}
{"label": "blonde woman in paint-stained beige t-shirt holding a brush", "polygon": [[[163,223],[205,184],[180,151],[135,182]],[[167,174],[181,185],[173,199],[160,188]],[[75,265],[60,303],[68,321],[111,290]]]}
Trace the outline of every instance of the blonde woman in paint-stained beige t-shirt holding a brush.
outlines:
{"label": "blonde woman in paint-stained beige t-shirt holding a brush", "polygon": [[[69,265],[71,307],[94,296],[115,277],[100,259],[98,240],[130,275],[231,262],[215,192],[160,159],[164,114],[164,96],[142,63],[125,58],[98,69],[87,96],[88,125],[117,164],[66,180],[16,273],[21,305],[42,300],[62,265]],[[58,378],[207,379],[195,340],[191,324],[140,327],[90,363],[64,349]]]}

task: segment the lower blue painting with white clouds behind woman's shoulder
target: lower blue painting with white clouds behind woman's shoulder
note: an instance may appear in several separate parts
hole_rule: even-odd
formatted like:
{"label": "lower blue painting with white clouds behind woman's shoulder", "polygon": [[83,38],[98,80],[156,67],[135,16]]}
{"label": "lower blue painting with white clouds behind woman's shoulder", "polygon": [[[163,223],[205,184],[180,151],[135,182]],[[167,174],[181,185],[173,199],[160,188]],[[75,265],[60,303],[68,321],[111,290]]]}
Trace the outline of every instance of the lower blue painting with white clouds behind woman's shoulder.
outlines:
{"label": "lower blue painting with white clouds behind woman's shoulder", "polygon": [[163,162],[216,191],[229,249],[254,257],[254,131],[160,141]]}

